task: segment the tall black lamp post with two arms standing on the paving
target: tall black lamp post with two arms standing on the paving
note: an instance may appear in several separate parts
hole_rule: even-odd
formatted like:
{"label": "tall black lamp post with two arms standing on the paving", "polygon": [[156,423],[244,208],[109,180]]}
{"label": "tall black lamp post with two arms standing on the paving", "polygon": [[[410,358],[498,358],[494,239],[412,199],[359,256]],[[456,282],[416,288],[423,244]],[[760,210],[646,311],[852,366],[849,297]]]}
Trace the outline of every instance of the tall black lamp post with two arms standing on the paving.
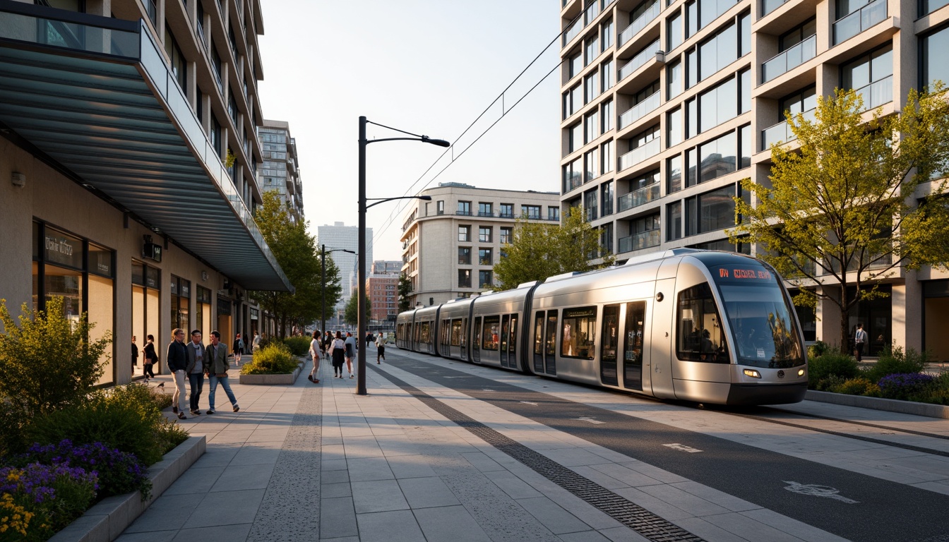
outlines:
{"label": "tall black lamp post with two arms standing on the paving", "polygon": [[[388,128],[396,132],[401,132],[411,138],[383,138],[381,140],[366,140],[365,139],[365,125],[368,123],[376,124],[383,128]],[[356,310],[357,310],[357,321],[359,322],[359,329],[357,333],[359,334],[356,338],[359,343],[363,343],[363,347],[359,348],[359,351],[356,354],[356,393],[359,395],[365,395],[365,210],[372,207],[373,205],[379,205],[385,201],[391,201],[393,199],[425,199],[431,200],[432,196],[400,196],[400,197],[374,197],[373,200],[377,200],[375,203],[366,205],[366,196],[365,196],[365,146],[369,143],[377,143],[380,141],[399,141],[399,140],[410,140],[410,141],[421,141],[423,143],[431,143],[433,145],[438,145],[439,147],[450,147],[452,144],[446,140],[433,140],[428,136],[419,136],[417,134],[412,134],[391,126],[384,126],[376,122],[367,121],[365,117],[359,118],[359,254],[357,258],[359,260],[359,271],[358,271],[358,280],[359,280],[359,289],[357,295],[359,299],[357,300]]]}

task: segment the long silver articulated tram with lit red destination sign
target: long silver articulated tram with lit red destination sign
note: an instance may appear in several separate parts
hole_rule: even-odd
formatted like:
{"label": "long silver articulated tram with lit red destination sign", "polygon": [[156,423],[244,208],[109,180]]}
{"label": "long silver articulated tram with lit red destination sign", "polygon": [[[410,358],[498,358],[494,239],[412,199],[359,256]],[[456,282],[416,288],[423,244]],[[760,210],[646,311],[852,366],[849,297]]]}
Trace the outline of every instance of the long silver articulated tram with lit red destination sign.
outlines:
{"label": "long silver articulated tram with lit red destination sign", "polygon": [[808,384],[780,277],[731,252],[674,249],[408,310],[396,344],[661,399],[800,402]]}

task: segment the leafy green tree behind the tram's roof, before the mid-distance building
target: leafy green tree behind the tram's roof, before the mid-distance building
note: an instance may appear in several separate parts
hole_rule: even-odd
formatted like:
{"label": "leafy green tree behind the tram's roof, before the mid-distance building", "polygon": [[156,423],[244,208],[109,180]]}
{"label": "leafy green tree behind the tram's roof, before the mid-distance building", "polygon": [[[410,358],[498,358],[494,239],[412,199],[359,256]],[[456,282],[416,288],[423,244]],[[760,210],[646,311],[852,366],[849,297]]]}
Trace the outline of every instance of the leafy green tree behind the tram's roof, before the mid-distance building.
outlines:
{"label": "leafy green tree behind the tram's roof, before the mid-distance building", "polygon": [[[563,225],[518,218],[513,242],[501,251],[501,259],[494,265],[494,290],[510,290],[525,282],[569,271],[602,269],[616,261],[616,256],[601,246],[599,232],[586,221],[586,213],[580,207],[570,209]],[[589,260],[597,257],[603,258],[602,263],[591,265]]]}

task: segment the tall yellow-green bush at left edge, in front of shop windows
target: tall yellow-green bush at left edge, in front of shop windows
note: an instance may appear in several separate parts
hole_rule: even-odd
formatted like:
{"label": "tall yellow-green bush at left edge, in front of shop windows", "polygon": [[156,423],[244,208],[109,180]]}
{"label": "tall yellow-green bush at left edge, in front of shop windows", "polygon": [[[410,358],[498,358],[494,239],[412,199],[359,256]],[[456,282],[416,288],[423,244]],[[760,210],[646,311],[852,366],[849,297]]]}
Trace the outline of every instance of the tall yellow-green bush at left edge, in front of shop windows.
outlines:
{"label": "tall yellow-green bush at left edge, in front of shop windows", "polygon": [[62,297],[51,297],[47,309],[26,304],[14,320],[0,300],[0,454],[22,449],[25,424],[34,417],[83,404],[102,376],[102,360],[111,334],[89,341],[88,315],[65,317]]}

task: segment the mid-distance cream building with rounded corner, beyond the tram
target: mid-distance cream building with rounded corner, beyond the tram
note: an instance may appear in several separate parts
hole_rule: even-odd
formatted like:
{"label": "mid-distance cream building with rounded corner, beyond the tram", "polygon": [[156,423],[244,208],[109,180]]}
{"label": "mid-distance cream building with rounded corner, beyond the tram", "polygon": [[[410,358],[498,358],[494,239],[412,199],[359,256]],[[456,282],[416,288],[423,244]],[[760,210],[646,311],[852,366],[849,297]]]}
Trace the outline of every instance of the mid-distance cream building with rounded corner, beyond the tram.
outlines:
{"label": "mid-distance cream building with rounded corner, beyond the tram", "polygon": [[402,222],[402,272],[412,281],[411,305],[444,303],[491,290],[493,266],[511,242],[515,220],[560,222],[555,192],[475,188],[457,182],[422,191],[432,196]]}

